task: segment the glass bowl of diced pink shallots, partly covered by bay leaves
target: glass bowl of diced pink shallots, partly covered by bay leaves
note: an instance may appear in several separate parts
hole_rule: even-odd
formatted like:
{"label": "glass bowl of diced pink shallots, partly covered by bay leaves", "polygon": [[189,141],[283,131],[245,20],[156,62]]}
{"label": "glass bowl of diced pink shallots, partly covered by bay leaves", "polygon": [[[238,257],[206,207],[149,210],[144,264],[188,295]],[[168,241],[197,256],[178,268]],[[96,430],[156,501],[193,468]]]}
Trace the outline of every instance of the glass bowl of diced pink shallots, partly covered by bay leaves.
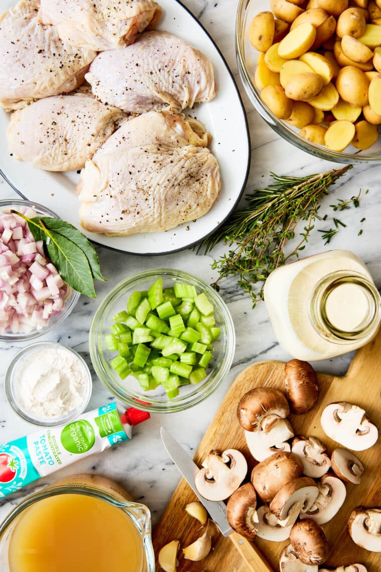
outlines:
{"label": "glass bowl of diced pink shallots, partly covered by bay leaves", "polygon": [[24,219],[57,215],[45,206],[21,199],[0,201],[0,340],[23,341],[41,336],[73,311],[73,291],[47,259]]}

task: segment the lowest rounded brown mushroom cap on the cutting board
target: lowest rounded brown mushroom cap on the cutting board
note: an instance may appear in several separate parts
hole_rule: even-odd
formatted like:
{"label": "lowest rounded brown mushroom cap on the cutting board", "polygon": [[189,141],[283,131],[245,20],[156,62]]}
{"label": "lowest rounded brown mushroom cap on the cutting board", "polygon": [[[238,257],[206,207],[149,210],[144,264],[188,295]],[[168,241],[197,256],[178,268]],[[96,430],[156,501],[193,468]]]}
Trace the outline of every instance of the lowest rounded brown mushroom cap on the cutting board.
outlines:
{"label": "lowest rounded brown mushroom cap on the cutting board", "polygon": [[290,532],[290,542],[296,556],[304,564],[323,564],[328,558],[329,548],[324,530],[311,519],[295,523]]}

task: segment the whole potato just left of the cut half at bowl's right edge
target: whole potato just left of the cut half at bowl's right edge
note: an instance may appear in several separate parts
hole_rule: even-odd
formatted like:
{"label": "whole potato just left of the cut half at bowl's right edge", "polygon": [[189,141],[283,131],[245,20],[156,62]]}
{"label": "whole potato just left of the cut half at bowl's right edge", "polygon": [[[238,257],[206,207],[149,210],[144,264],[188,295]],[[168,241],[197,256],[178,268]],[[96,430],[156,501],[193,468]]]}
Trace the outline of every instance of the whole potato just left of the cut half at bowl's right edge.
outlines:
{"label": "whole potato just left of the cut half at bowl's right edge", "polygon": [[[344,101],[347,101],[349,104],[356,107],[363,107],[370,102],[368,100],[368,90],[370,89],[369,80],[364,72],[359,70],[358,67],[342,67],[336,79],[336,89]],[[374,109],[374,111],[378,113],[376,109]]]}

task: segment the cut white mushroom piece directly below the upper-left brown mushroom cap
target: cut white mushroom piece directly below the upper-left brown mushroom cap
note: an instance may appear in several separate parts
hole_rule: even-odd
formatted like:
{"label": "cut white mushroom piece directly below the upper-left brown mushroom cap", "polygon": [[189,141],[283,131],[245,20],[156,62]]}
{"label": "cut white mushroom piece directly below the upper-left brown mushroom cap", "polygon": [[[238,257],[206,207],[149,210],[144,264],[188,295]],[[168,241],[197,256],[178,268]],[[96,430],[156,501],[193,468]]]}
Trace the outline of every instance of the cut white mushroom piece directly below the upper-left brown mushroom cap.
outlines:
{"label": "cut white mushroom piece directly below the upper-left brown mushroom cap", "polygon": [[265,422],[264,427],[260,424],[256,431],[245,431],[244,436],[254,459],[262,461],[275,452],[289,452],[290,444],[285,441],[294,436],[294,431],[287,419],[278,418],[271,423],[270,428]]}

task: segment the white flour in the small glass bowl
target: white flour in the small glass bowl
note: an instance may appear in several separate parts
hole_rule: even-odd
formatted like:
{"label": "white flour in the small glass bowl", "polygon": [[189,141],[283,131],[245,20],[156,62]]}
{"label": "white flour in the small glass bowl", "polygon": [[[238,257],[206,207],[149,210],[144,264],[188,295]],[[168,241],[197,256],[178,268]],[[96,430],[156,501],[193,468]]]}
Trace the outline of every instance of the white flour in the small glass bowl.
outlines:
{"label": "white flour in the small glass bowl", "polygon": [[82,402],[86,385],[85,367],[65,348],[30,353],[15,371],[19,407],[33,417],[61,417],[73,411]]}

